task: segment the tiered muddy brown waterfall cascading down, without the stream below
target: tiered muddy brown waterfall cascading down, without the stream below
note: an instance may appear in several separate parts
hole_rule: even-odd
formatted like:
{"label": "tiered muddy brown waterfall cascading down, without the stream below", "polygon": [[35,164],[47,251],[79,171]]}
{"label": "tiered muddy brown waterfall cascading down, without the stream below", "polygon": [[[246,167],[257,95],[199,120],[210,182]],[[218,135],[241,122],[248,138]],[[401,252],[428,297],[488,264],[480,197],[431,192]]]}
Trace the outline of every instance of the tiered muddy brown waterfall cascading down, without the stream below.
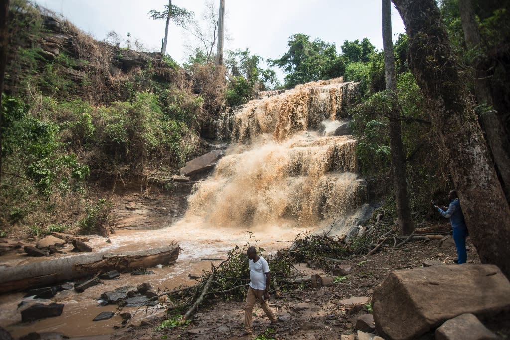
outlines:
{"label": "tiered muddy brown waterfall cascading down, without the stream below", "polygon": [[230,140],[212,176],[197,182],[186,216],[210,227],[314,227],[364,203],[355,140],[334,136],[356,84],[342,78],[262,92],[213,122]]}

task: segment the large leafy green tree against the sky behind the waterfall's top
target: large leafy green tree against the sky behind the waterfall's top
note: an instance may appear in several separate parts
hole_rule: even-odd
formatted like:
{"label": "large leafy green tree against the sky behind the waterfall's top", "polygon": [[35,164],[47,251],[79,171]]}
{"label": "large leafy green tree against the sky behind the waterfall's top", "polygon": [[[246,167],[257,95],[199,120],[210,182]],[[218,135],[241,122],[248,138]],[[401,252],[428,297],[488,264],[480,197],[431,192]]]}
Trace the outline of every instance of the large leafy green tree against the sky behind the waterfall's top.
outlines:
{"label": "large leafy green tree against the sky behind the waterfall's top", "polygon": [[295,34],[289,38],[289,50],[281,58],[269,60],[287,73],[285,87],[293,88],[306,82],[330,79],[343,74],[344,60],[337,54],[335,44],[310,36]]}

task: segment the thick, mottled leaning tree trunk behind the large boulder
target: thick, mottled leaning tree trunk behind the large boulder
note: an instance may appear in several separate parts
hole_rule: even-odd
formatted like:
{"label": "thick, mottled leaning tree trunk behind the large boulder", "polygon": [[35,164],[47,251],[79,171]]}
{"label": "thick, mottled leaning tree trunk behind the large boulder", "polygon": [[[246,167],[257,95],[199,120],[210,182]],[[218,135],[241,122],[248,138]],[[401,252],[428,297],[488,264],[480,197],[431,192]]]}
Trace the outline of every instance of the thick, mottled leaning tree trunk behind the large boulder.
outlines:
{"label": "thick, mottled leaning tree trunk behind the large boulder", "polygon": [[[409,66],[428,100],[482,263],[510,277],[510,208],[489,158],[434,0],[393,0],[409,36]],[[439,155],[438,155],[439,156]]]}

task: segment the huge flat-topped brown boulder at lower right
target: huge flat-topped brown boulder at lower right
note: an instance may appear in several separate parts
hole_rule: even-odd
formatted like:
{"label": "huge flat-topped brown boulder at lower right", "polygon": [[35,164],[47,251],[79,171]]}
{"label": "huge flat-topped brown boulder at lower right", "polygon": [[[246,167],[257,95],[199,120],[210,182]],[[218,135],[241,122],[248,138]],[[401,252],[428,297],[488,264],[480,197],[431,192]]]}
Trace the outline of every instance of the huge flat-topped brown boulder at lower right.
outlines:
{"label": "huge flat-topped brown boulder at lower right", "polygon": [[414,339],[463,313],[510,309],[510,283],[493,265],[398,270],[375,288],[372,308],[379,334]]}

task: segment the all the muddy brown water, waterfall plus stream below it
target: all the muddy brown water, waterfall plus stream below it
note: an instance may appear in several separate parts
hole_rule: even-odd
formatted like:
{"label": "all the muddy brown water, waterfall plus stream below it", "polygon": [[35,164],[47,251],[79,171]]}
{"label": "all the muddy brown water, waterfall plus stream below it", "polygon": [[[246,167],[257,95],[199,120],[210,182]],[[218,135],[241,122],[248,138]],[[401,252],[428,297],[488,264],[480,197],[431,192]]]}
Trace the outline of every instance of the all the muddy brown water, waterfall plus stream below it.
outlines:
{"label": "all the muddy brown water, waterfall plus stream below it", "polygon": [[[335,136],[346,126],[346,108],[356,100],[356,84],[340,78],[278,92],[261,93],[262,98],[213,122],[217,139],[230,141],[230,146],[214,173],[196,182],[181,220],[157,230],[118,230],[110,236],[111,244],[101,238],[90,242],[100,252],[177,242],[183,252],[176,265],[152,269],[155,275],[124,274],[82,294],[60,292],[54,300],[66,302],[63,315],[28,324],[19,323],[22,295],[2,296],[0,325],[15,336],[30,331],[109,333],[119,325],[117,315],[90,321],[100,311],[115,310],[112,305],[97,307],[95,299],[102,292],[144,281],[155,290],[190,285],[194,281],[188,274],[210,268],[202,258],[225,258],[235,245],[257,243],[274,252],[299,233],[332,228],[333,234],[340,234],[357,225],[367,204],[363,180],[356,174],[355,141],[349,135]],[[161,305],[149,308],[149,315],[163,313]],[[140,314],[135,322],[145,317],[145,312]]]}

